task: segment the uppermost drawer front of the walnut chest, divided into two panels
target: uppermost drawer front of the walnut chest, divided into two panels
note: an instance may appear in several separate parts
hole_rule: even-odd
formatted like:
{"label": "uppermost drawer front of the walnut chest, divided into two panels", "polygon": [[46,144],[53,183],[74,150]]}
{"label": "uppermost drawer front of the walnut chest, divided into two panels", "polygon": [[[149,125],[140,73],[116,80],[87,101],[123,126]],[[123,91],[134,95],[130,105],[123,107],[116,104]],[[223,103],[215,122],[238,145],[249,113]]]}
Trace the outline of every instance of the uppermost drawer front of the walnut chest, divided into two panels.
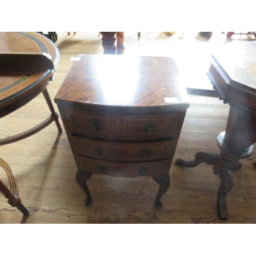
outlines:
{"label": "uppermost drawer front of the walnut chest, divided into two panels", "polygon": [[154,139],[175,135],[179,113],[114,115],[65,109],[70,130],[94,138]]}

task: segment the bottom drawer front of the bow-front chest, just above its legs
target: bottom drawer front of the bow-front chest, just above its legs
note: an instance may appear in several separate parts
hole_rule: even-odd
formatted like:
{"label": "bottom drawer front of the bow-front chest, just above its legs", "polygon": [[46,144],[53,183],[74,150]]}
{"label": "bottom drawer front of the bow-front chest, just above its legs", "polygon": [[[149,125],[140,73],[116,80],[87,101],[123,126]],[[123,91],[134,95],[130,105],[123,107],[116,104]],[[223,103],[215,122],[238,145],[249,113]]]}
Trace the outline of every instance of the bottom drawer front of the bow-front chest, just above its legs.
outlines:
{"label": "bottom drawer front of the bow-front chest, just above its legs", "polygon": [[122,163],[93,160],[77,157],[78,169],[92,174],[105,174],[114,177],[157,176],[169,172],[168,160],[140,163]]}

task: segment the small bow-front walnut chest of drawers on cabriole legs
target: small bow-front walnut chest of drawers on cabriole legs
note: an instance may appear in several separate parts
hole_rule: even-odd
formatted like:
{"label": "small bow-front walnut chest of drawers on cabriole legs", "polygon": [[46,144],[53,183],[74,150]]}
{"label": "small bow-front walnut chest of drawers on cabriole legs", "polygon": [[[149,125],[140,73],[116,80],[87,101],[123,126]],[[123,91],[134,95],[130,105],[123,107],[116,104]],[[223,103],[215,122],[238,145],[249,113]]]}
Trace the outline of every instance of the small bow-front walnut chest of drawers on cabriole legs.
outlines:
{"label": "small bow-front walnut chest of drawers on cabriole legs", "polygon": [[92,198],[93,174],[153,177],[167,191],[169,169],[189,106],[171,57],[79,55],[55,97],[77,164],[76,181]]}

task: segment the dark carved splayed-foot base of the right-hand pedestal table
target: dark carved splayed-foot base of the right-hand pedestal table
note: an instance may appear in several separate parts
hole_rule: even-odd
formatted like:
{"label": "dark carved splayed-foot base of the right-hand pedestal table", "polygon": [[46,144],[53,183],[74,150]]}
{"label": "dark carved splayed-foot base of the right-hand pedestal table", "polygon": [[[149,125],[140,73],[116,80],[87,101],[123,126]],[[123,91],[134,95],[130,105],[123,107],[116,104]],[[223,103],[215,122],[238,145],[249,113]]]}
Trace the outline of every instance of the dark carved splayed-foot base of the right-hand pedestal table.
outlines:
{"label": "dark carved splayed-foot base of the right-hand pedestal table", "polygon": [[230,170],[236,170],[242,167],[239,159],[245,159],[252,155],[253,145],[251,145],[243,153],[234,152],[228,148],[224,141],[225,132],[221,133],[217,139],[221,152],[219,154],[211,154],[208,152],[198,152],[194,161],[177,159],[176,165],[182,167],[196,167],[200,163],[213,165],[214,174],[219,175],[221,184],[217,194],[217,211],[220,220],[228,219],[228,211],[226,206],[226,197],[233,187],[233,178]]}

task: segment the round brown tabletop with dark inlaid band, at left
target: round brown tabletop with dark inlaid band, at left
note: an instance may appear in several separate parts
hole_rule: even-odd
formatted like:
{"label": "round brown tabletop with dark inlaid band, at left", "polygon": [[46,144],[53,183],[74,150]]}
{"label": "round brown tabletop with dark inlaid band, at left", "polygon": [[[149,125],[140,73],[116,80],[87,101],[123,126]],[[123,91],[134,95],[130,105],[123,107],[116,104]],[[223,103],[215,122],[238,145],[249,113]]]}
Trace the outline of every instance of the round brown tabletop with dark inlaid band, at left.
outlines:
{"label": "round brown tabletop with dark inlaid band, at left", "polygon": [[[59,61],[57,47],[45,36],[35,32],[0,33],[0,103],[52,71],[40,63],[40,57],[50,58],[54,67]],[[39,61],[35,63],[34,59]]]}

